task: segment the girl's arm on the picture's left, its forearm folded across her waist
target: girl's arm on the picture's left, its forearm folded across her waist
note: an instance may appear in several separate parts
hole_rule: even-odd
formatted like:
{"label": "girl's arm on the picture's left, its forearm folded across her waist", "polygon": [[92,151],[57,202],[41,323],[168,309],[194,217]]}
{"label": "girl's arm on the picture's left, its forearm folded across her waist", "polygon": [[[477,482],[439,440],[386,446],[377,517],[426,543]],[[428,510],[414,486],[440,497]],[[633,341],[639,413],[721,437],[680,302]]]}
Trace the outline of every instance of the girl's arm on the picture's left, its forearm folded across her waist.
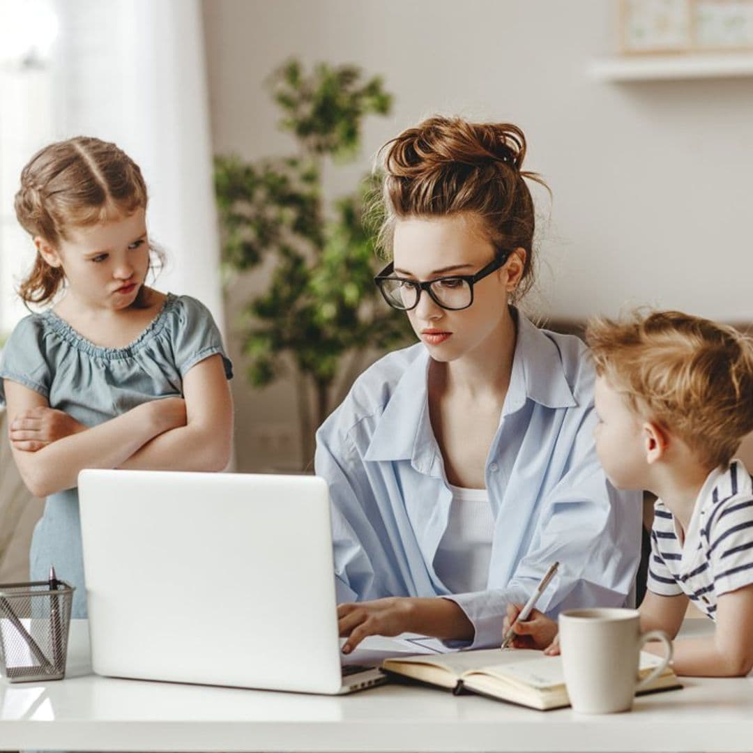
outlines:
{"label": "girl's arm on the picture's left, its forearm folded across her waist", "polygon": [[[8,425],[35,407],[49,407],[38,392],[12,380],[3,380]],[[184,401],[165,398],[139,405],[122,416],[63,437],[36,452],[12,445],[23,482],[35,497],[46,497],[78,483],[83,468],[115,468],[152,437],[185,422]]]}

